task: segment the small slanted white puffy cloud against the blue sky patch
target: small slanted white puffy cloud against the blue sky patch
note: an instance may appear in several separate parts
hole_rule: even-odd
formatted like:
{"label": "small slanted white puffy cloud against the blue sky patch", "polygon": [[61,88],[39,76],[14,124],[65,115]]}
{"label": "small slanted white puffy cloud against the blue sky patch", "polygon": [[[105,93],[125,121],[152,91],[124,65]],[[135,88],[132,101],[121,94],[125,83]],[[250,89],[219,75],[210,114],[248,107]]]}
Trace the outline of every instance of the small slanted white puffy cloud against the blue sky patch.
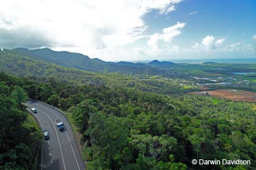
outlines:
{"label": "small slanted white puffy cloud against the blue sky patch", "polygon": [[180,35],[181,29],[185,27],[185,25],[185,23],[177,22],[177,24],[171,27],[164,28],[163,33],[155,33],[150,36],[150,39],[147,41],[148,46],[153,49],[158,49],[160,40],[170,43],[175,36]]}

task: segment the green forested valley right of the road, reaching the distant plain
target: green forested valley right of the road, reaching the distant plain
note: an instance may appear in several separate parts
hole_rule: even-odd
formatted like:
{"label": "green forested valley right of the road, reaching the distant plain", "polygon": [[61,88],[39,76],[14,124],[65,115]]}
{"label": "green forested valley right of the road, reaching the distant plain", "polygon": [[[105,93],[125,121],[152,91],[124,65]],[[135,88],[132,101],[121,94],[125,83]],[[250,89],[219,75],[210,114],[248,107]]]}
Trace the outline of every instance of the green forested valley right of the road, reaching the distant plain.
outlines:
{"label": "green forested valley right of the road, reaching the distant plain", "polygon": [[[10,88],[19,86],[31,99],[69,114],[81,135],[88,169],[253,169],[256,164],[255,105],[187,94],[224,87],[255,91],[253,82],[238,83],[253,74],[213,71],[232,66],[253,72],[254,65],[245,70],[238,64],[154,62],[150,67],[158,71],[146,75],[71,69],[13,50],[3,50],[0,56],[0,69],[5,72],[0,74],[1,82]],[[195,78],[197,70],[204,74]],[[225,78],[229,84],[221,84]],[[243,159],[251,165],[191,163],[199,158]]]}

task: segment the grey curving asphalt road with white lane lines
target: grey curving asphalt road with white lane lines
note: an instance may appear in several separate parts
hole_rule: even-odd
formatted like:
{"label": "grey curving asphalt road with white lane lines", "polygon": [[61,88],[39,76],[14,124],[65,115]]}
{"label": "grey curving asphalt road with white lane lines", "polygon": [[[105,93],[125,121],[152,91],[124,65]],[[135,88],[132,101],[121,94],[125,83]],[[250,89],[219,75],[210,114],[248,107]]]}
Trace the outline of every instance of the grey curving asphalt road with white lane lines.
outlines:
{"label": "grey curving asphalt road with white lane lines", "polygon": [[[75,135],[64,114],[39,101],[28,100],[26,105],[28,111],[36,108],[37,113],[30,112],[39,120],[43,132],[49,132],[49,139],[44,140],[40,154],[39,169],[84,170],[85,164],[82,161]],[[57,129],[55,125],[57,118],[64,123],[63,130]]]}

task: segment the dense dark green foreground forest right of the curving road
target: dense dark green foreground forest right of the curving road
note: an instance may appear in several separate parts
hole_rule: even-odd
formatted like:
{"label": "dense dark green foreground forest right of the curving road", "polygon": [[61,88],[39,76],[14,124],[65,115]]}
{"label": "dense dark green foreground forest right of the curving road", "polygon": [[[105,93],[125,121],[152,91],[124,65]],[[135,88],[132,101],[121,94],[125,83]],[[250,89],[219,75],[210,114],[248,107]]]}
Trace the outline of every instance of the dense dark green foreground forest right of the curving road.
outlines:
{"label": "dense dark green foreground forest right of the curving road", "polygon": [[[0,82],[6,82],[6,89],[22,87],[28,97],[69,113],[82,135],[88,169],[255,169],[253,103],[165,95],[119,84],[54,78],[35,82],[5,73]],[[192,159],[241,159],[251,164],[193,165]]]}

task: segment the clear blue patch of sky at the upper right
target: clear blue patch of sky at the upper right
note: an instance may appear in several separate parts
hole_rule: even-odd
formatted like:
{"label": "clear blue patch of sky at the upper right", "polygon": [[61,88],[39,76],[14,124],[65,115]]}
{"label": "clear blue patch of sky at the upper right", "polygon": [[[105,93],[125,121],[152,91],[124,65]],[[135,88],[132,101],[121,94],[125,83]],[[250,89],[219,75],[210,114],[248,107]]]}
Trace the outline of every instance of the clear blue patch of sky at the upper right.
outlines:
{"label": "clear blue patch of sky at the upper right", "polygon": [[[178,40],[201,40],[205,35],[227,37],[230,41],[251,42],[256,31],[256,1],[183,1],[177,10],[159,15],[154,10],[144,17],[148,34],[161,31],[177,21],[187,23]],[[197,12],[189,15],[189,13]],[[175,40],[174,40],[175,41]],[[176,41],[175,41],[176,42]]]}

